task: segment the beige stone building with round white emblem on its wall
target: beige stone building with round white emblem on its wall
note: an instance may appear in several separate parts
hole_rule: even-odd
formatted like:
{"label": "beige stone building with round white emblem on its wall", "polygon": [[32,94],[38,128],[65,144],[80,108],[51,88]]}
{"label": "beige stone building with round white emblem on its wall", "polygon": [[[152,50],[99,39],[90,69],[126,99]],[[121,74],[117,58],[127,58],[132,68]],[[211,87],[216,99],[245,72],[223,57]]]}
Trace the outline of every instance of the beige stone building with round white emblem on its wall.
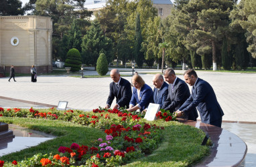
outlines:
{"label": "beige stone building with round white emblem on its wall", "polygon": [[[52,71],[52,20],[42,16],[0,16],[0,67],[9,72]],[[0,71],[0,72],[2,72]]]}

